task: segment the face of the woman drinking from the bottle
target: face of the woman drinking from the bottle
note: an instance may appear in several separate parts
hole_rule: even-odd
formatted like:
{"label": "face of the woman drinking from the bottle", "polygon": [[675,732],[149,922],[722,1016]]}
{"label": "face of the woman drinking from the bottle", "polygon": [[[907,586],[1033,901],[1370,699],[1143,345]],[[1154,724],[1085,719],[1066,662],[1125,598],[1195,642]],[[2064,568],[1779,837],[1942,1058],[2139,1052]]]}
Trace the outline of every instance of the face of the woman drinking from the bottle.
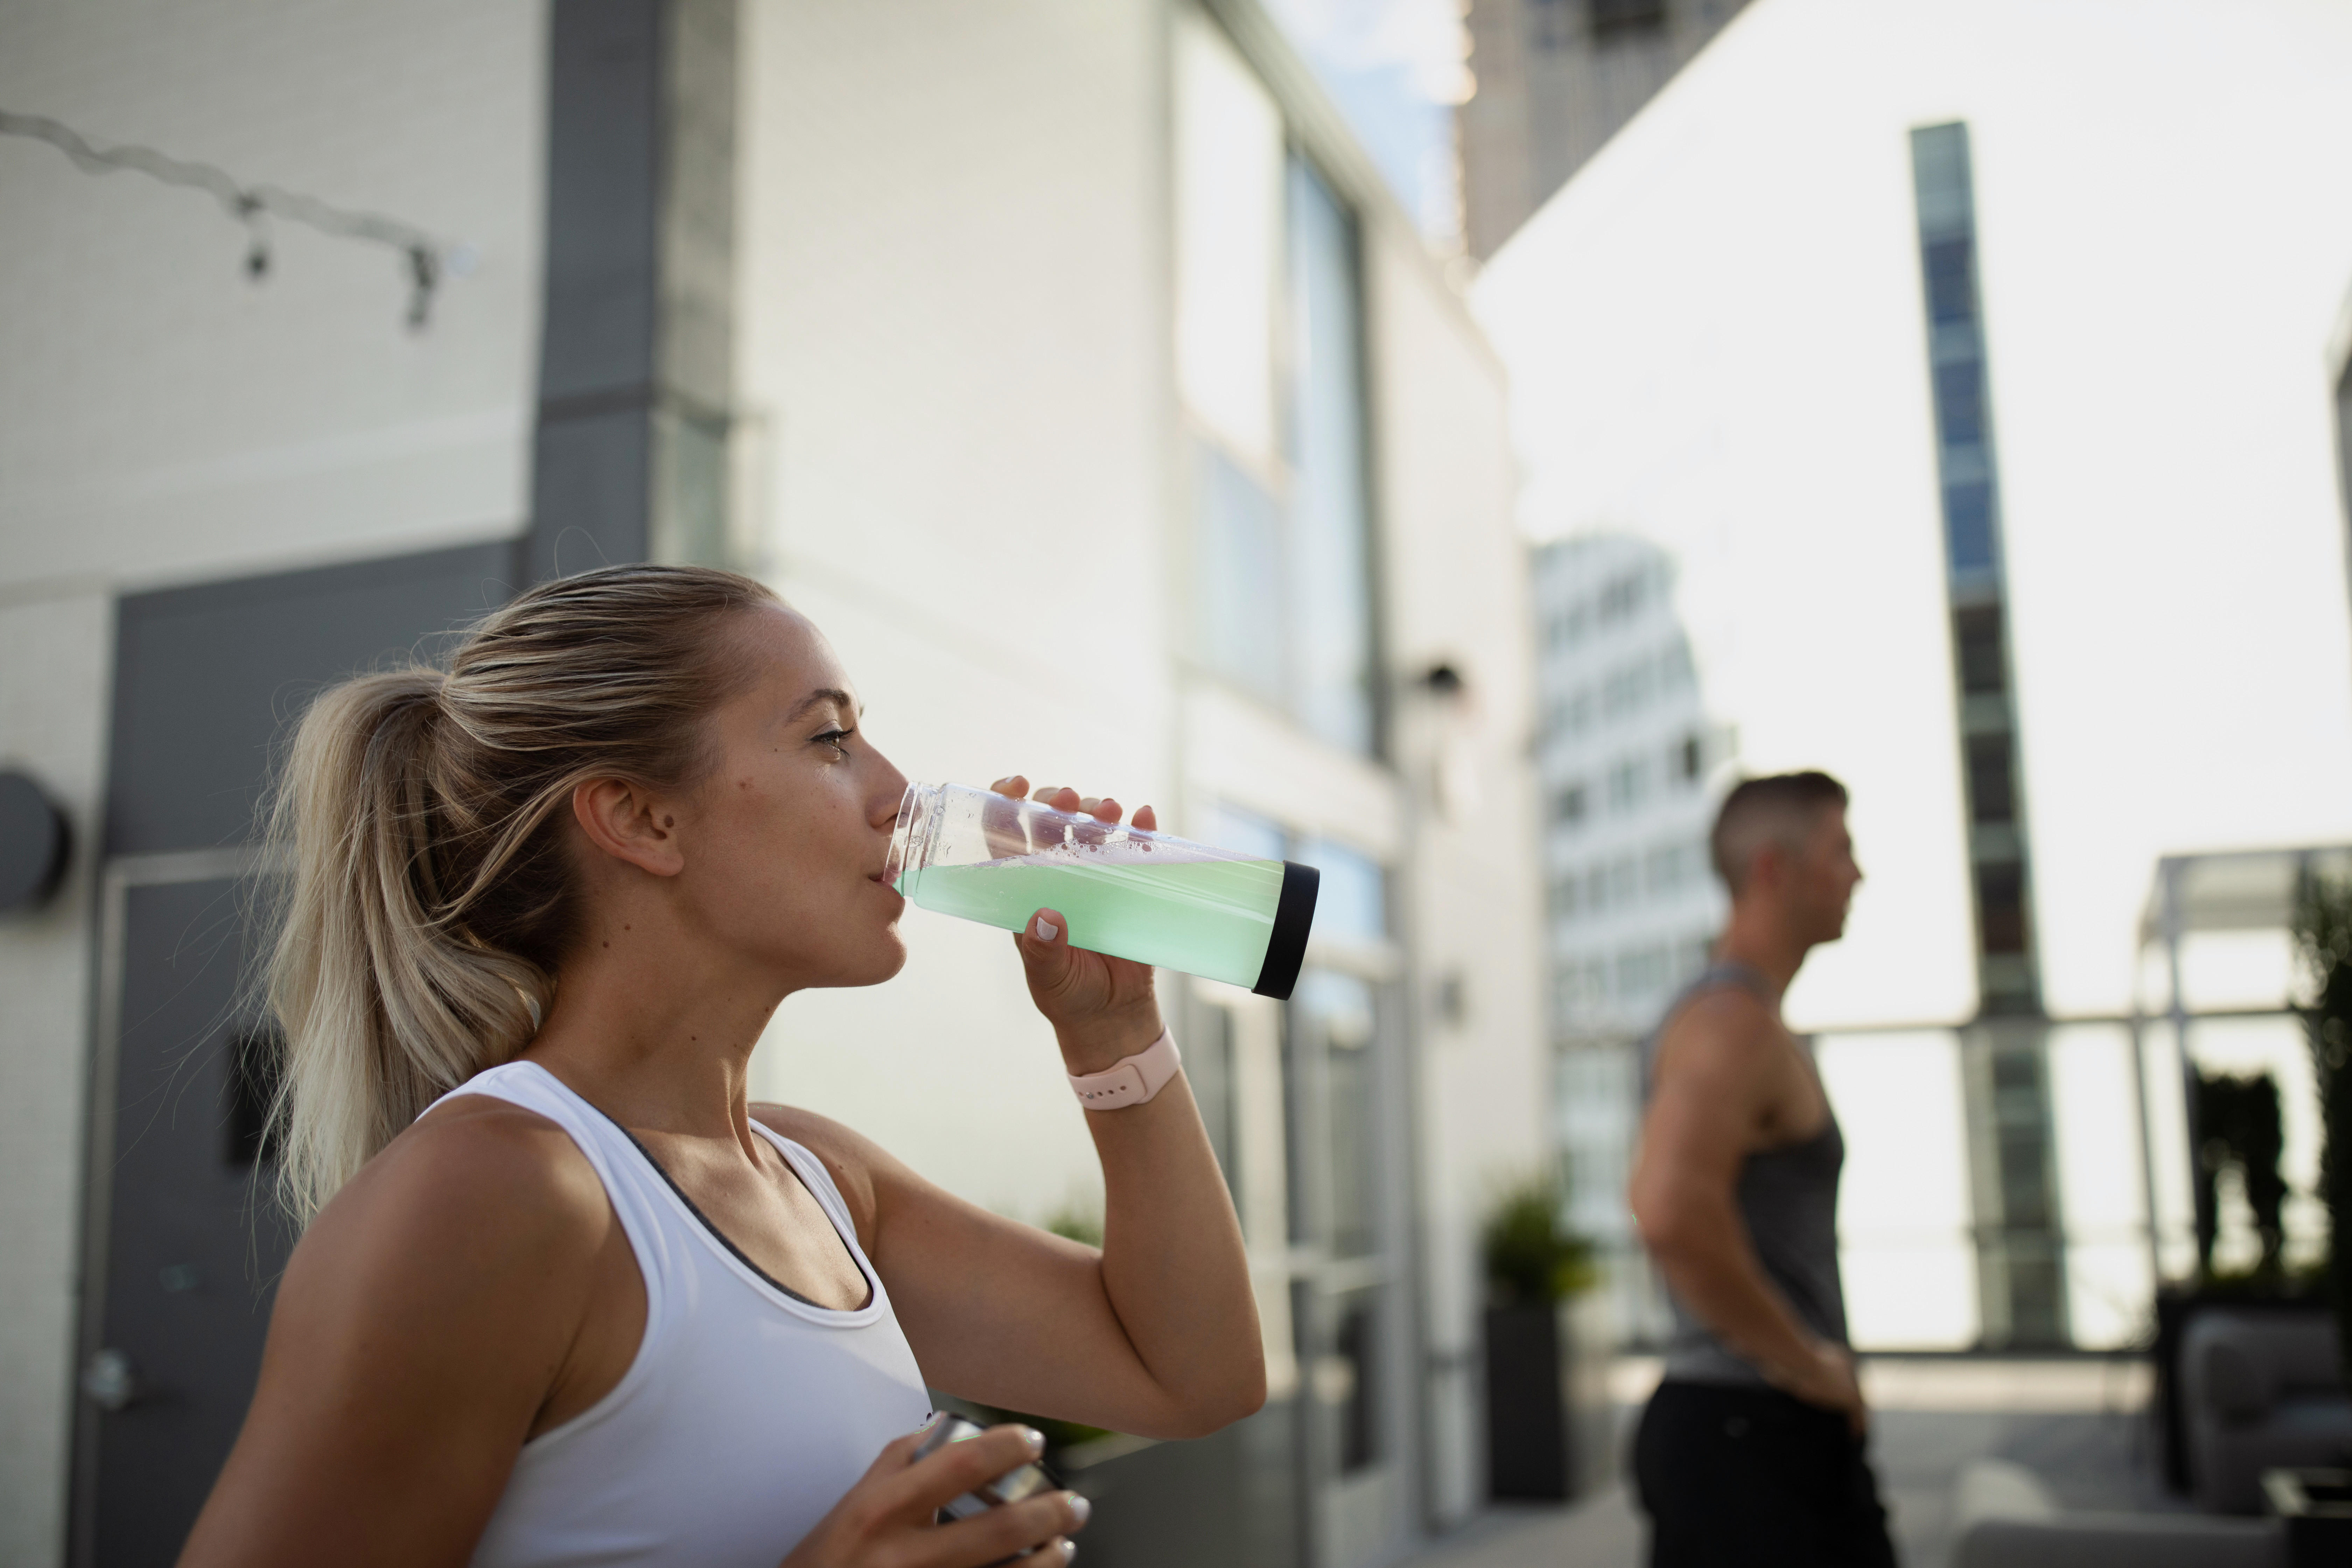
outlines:
{"label": "face of the woman drinking from the bottle", "polygon": [[729,639],[753,677],[710,715],[717,766],[684,802],[694,919],[795,990],[889,980],[906,900],[882,860],[906,776],[861,733],[849,675],[804,616],[760,607]]}

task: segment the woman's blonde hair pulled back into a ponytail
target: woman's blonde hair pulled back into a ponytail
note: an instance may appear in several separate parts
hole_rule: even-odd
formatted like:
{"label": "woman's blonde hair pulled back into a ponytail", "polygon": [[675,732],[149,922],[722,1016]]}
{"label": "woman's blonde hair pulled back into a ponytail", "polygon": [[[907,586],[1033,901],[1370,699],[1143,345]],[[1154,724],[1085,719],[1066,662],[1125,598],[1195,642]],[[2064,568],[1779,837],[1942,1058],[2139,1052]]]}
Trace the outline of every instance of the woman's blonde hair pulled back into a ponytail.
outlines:
{"label": "woman's blonde hair pulled back into a ponytail", "polygon": [[609,567],[489,614],[447,672],[362,675],[310,703],[270,806],[289,877],[266,980],[299,1222],[532,1041],[579,919],[572,790],[691,783],[701,719],[736,684],[724,623],[774,602],[727,571]]}

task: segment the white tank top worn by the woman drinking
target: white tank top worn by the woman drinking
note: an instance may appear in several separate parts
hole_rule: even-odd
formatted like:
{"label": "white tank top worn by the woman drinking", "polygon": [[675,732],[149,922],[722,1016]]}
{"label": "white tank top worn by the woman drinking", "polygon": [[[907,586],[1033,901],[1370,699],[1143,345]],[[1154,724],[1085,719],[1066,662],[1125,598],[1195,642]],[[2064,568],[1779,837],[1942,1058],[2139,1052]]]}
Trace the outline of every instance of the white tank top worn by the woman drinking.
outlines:
{"label": "white tank top worn by the woman drinking", "polygon": [[644,1274],[637,1359],[604,1399],[522,1446],[475,1568],[776,1568],[931,1410],[826,1164],[753,1121],[866,1274],[873,1300],[856,1312],[786,1293],[539,1063],[492,1067],[442,1098],[456,1095],[492,1095],[572,1133]]}

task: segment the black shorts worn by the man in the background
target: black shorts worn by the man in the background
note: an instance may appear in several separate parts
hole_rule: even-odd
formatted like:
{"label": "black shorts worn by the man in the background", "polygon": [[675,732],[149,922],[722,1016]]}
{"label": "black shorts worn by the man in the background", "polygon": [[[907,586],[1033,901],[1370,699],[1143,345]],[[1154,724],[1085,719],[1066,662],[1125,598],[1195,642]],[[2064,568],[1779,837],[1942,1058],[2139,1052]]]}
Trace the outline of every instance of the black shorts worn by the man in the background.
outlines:
{"label": "black shorts worn by the man in the background", "polygon": [[1778,1389],[1661,1382],[1632,1476],[1651,1568],[1893,1568],[1863,1441]]}

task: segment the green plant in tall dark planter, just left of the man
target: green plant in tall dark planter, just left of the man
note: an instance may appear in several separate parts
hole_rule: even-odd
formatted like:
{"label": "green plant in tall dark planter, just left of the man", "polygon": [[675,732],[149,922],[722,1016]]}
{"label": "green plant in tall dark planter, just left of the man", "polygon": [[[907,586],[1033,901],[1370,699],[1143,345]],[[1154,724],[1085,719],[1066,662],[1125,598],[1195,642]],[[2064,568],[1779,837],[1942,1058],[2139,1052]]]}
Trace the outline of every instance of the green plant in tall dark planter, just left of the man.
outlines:
{"label": "green plant in tall dark planter, just left of the man", "polygon": [[1550,1175],[1510,1182],[1486,1213],[1486,1490],[1564,1502],[1569,1410],[1562,1302],[1592,1284],[1592,1248],[1559,1222]]}

